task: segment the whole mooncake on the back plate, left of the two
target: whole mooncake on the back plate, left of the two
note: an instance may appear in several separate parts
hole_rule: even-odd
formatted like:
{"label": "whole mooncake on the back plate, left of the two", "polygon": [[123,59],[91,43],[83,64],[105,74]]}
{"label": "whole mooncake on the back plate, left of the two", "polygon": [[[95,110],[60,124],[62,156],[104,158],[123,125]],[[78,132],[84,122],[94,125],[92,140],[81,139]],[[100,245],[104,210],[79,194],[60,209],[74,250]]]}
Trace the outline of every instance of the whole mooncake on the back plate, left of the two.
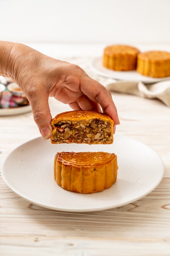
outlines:
{"label": "whole mooncake on the back plate, left of the two", "polygon": [[129,45],[110,45],[103,52],[103,66],[110,70],[129,71],[137,66],[139,49]]}

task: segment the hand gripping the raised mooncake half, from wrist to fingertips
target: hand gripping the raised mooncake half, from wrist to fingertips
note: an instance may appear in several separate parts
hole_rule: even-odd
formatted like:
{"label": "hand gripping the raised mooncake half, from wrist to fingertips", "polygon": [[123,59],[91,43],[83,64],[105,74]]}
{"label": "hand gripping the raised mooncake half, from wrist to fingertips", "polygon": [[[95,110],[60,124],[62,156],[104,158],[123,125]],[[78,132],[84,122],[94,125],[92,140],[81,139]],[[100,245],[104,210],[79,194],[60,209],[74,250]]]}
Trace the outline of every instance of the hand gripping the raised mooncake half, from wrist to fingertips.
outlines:
{"label": "hand gripping the raised mooncake half, from wrist to fingertips", "polygon": [[52,135],[49,96],[68,103],[73,110],[104,112],[113,119],[115,132],[119,119],[110,92],[80,67],[48,57],[22,44],[10,45],[8,60],[10,65],[6,75],[26,95],[44,139]]}

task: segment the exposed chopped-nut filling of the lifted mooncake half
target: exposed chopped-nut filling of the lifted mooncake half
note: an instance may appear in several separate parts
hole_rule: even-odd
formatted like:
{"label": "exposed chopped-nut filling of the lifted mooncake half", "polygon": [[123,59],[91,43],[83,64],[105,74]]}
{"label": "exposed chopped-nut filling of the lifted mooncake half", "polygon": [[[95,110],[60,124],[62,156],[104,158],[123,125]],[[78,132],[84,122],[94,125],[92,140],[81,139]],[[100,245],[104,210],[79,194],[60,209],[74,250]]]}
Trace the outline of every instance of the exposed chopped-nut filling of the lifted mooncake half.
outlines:
{"label": "exposed chopped-nut filling of the lifted mooncake half", "polygon": [[111,144],[113,126],[110,122],[91,119],[60,120],[52,125],[52,143]]}

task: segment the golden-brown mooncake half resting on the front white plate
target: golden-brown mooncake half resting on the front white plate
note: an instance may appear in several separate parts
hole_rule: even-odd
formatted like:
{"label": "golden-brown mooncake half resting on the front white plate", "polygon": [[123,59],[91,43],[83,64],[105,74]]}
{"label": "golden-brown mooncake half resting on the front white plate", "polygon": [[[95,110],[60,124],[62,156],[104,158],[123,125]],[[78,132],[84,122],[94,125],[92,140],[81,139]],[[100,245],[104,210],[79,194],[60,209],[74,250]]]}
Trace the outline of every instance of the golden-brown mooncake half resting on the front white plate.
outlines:
{"label": "golden-brown mooncake half resting on the front white plate", "polygon": [[109,189],[117,179],[117,156],[104,152],[61,152],[54,158],[54,180],[77,193]]}

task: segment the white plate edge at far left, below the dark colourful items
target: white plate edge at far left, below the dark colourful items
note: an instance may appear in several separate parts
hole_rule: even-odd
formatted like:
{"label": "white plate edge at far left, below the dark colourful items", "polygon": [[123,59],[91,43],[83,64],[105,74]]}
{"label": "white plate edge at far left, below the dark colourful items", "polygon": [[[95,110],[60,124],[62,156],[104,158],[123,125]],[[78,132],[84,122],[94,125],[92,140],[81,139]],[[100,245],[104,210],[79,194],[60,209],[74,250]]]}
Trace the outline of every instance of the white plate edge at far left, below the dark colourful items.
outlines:
{"label": "white plate edge at far left, below the dark colourful items", "polygon": [[0,108],[0,117],[15,116],[31,111],[31,105],[17,108]]}

